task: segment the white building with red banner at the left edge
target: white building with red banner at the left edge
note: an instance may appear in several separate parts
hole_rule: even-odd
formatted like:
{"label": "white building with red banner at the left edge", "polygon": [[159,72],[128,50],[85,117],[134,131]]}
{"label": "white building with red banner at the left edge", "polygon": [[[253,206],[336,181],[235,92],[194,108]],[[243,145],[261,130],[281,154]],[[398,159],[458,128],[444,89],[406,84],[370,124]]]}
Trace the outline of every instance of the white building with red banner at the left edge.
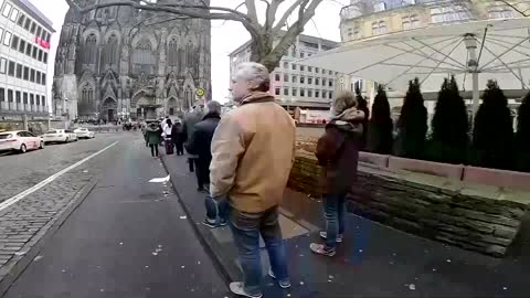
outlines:
{"label": "white building with red banner at the left edge", "polygon": [[0,0],[0,123],[18,129],[47,125],[52,22],[28,0]]}

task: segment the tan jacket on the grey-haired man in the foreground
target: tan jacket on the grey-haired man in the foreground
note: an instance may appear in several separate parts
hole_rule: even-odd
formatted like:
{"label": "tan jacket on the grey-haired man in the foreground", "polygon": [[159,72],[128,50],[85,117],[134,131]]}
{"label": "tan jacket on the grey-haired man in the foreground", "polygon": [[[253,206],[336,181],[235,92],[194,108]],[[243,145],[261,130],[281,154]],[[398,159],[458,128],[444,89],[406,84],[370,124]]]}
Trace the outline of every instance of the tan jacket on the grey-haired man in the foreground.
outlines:
{"label": "tan jacket on the grey-haired man in the foreground", "polygon": [[210,194],[258,213],[282,202],[295,159],[296,127],[268,93],[254,92],[223,115],[212,140]]}

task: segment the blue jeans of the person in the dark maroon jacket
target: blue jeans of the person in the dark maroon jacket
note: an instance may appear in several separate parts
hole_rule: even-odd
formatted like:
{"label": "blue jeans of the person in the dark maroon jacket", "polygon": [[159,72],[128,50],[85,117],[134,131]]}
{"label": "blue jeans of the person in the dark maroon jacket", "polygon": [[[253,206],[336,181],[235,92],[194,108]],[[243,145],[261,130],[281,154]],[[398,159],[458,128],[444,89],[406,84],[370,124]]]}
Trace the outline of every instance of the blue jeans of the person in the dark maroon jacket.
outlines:
{"label": "blue jeans of the person in the dark maroon jacket", "polygon": [[338,234],[344,234],[346,193],[326,194],[322,200],[326,216],[326,247],[337,247]]}

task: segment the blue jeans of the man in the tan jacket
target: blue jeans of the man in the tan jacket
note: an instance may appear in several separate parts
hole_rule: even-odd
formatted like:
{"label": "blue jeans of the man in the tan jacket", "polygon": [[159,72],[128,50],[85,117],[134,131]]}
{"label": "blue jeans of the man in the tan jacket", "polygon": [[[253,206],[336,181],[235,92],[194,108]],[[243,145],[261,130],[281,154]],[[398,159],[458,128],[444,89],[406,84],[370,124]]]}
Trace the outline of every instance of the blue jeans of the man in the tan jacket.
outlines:
{"label": "blue jeans of the man in the tan jacket", "polygon": [[230,212],[230,227],[240,252],[245,291],[262,294],[262,262],[259,258],[259,235],[267,247],[271,267],[279,281],[289,281],[287,256],[278,222],[278,207],[262,213],[245,213],[235,209]]}

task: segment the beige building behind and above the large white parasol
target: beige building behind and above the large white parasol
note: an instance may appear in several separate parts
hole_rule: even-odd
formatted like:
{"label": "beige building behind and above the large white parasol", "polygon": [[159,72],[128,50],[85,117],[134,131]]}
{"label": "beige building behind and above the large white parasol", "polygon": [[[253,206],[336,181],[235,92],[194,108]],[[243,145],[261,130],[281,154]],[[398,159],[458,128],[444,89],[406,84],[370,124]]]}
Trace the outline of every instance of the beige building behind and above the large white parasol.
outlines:
{"label": "beige building behind and above the large white parasol", "polygon": [[[530,9],[530,1],[508,2],[513,2],[520,11]],[[496,0],[351,0],[350,4],[342,8],[340,12],[340,34],[342,44],[348,44],[404,30],[516,17],[522,15],[506,3]],[[377,82],[363,81],[348,75],[342,75],[338,79],[341,89],[353,91],[356,87],[360,87],[370,99],[373,99],[375,95]],[[438,91],[423,89],[423,92],[426,99],[425,106],[432,116]],[[513,98],[510,103],[513,107],[517,107],[517,100],[522,97],[523,91],[509,94],[512,94]],[[388,95],[393,117],[398,118],[404,94],[403,92],[389,91]],[[469,92],[462,95],[470,100],[471,94]]]}

